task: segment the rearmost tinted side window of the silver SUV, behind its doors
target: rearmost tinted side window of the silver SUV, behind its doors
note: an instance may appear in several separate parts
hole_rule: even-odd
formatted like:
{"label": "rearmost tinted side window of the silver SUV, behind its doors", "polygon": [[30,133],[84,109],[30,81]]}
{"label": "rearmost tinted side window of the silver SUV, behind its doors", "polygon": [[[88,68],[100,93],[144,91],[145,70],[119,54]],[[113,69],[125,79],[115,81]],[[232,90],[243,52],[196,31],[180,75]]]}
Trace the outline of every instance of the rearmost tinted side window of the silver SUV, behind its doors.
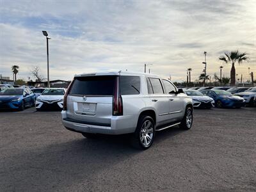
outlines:
{"label": "rearmost tinted side window of the silver SUV, behind its doors", "polygon": [[121,95],[140,94],[140,77],[120,76]]}

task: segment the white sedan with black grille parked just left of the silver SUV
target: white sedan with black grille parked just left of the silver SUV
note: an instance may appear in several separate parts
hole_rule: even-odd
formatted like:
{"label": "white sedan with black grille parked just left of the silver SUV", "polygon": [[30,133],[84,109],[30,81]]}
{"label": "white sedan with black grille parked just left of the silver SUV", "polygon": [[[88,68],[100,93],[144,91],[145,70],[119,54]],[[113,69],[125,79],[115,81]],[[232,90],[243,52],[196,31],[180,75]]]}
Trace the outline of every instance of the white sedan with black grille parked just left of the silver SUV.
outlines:
{"label": "white sedan with black grille parked just left of the silver SUV", "polygon": [[42,95],[36,99],[36,110],[40,109],[62,109],[65,88],[46,88]]}

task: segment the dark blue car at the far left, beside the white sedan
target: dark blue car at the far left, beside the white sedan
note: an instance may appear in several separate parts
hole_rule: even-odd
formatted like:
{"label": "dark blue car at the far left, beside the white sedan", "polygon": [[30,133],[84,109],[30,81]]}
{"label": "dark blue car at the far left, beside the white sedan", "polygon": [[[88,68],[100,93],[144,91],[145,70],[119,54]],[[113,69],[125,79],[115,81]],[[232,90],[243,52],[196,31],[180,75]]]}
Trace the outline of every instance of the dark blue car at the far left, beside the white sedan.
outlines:
{"label": "dark blue car at the far left, beside the white sedan", "polygon": [[0,92],[0,109],[19,109],[35,106],[35,95],[29,88],[4,88]]}

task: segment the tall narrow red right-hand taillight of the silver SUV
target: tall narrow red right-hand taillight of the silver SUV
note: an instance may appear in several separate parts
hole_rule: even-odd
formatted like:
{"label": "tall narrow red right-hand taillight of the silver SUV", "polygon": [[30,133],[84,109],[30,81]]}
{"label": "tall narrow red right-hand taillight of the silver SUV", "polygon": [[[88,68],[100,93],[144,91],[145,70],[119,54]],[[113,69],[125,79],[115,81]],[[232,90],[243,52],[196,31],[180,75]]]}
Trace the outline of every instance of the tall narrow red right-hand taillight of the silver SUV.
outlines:
{"label": "tall narrow red right-hand taillight of the silver SUV", "polygon": [[119,77],[116,77],[115,90],[113,95],[113,115],[123,115],[123,101],[120,95]]}

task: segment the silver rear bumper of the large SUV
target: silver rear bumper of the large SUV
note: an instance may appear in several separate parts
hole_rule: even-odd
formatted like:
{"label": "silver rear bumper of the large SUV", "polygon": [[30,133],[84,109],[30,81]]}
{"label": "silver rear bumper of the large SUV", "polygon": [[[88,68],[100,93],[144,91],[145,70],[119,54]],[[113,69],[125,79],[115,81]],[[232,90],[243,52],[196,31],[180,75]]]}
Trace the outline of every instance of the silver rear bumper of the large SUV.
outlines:
{"label": "silver rear bumper of the large SUV", "polygon": [[62,124],[69,131],[90,132],[99,134],[127,134],[134,132],[136,124],[132,116],[113,116],[110,124],[100,124],[97,122],[85,122],[67,118],[66,111],[61,111]]}

